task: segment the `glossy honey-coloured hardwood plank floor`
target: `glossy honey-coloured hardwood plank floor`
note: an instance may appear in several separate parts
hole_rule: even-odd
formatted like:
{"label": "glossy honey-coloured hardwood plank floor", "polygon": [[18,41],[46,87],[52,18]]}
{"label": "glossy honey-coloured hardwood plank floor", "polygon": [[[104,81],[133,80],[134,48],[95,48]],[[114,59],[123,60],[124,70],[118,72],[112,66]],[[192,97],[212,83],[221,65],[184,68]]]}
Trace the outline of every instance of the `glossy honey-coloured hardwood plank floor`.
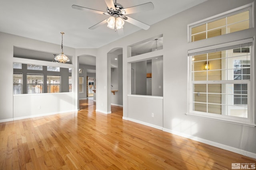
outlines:
{"label": "glossy honey-coloured hardwood plank floor", "polygon": [[0,123],[0,169],[231,169],[256,160],[95,112],[92,100],[78,113]]}

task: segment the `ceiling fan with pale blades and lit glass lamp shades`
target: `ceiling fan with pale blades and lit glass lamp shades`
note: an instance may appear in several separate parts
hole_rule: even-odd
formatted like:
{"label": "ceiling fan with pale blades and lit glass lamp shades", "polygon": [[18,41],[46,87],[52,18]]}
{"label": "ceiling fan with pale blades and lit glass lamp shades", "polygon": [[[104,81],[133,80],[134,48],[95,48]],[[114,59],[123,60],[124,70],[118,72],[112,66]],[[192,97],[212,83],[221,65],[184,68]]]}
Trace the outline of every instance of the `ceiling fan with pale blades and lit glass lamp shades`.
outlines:
{"label": "ceiling fan with pale blades and lit glass lamp shades", "polygon": [[77,9],[77,10],[84,10],[87,12],[94,12],[97,14],[104,14],[110,16],[108,19],[105,19],[89,29],[95,29],[105,23],[108,23],[108,27],[111,29],[116,29],[118,33],[122,34],[123,33],[123,25],[124,21],[127,21],[129,23],[132,23],[133,25],[136,25],[137,27],[140,27],[142,29],[149,29],[149,25],[146,23],[143,23],[141,21],[135,20],[134,18],[131,18],[129,16],[126,16],[127,14],[133,14],[133,13],[138,13],[138,12],[143,12],[143,11],[148,11],[148,10],[153,10],[154,5],[152,2],[148,2],[145,4],[140,4],[137,6],[132,6],[129,8],[124,8],[121,4],[118,4],[113,2],[113,0],[105,0],[106,5],[107,5],[107,12],[103,11],[98,11],[98,10],[93,10],[90,8],[78,6],[78,5],[72,5],[72,8]]}

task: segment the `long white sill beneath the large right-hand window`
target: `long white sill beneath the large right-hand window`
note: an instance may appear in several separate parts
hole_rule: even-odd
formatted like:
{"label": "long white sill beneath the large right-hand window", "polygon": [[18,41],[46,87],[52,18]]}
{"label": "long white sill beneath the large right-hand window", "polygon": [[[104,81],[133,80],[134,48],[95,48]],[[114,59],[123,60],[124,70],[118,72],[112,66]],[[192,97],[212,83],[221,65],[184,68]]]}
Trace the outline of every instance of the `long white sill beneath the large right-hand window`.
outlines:
{"label": "long white sill beneath the large right-hand window", "polygon": [[209,113],[206,115],[204,113],[186,113],[188,116],[200,117],[204,119],[211,119],[216,121],[224,121],[228,123],[235,123],[238,125],[246,125],[250,127],[256,127],[256,124],[249,120],[249,118],[242,118],[242,117],[235,117],[235,116],[228,116],[228,115],[218,115],[218,114],[211,114]]}

